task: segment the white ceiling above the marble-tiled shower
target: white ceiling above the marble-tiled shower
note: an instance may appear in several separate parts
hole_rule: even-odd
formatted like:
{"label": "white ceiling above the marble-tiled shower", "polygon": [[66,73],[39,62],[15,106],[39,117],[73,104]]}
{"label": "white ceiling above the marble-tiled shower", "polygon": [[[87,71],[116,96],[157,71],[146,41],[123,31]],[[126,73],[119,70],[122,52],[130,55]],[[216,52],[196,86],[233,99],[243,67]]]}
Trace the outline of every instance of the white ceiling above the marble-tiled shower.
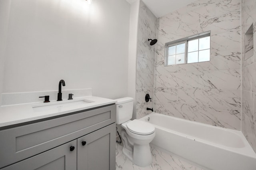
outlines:
{"label": "white ceiling above the marble-tiled shower", "polygon": [[[136,0],[126,0],[130,4]],[[142,0],[146,6],[159,18],[170,12],[178,10],[179,8],[194,2],[195,0]]]}

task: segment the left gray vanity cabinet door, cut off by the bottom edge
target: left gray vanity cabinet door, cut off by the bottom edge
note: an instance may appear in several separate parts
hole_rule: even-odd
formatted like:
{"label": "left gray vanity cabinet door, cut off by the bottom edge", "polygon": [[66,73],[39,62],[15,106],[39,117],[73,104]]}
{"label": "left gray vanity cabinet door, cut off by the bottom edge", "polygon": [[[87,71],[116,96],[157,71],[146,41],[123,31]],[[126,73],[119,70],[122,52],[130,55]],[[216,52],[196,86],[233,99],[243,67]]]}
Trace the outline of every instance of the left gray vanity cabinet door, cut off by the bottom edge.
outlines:
{"label": "left gray vanity cabinet door, cut off by the bottom edge", "polygon": [[1,170],[75,170],[76,143],[76,140],[71,141]]}

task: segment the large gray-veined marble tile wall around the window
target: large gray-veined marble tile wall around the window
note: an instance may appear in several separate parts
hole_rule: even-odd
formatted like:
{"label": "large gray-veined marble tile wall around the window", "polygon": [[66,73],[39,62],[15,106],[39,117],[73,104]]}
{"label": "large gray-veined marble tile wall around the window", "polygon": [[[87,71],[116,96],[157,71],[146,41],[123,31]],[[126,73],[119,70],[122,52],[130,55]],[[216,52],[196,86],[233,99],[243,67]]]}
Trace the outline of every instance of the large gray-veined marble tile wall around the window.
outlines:
{"label": "large gray-veined marble tile wall around the window", "polygon": [[[197,0],[157,22],[155,111],[240,130],[240,0]],[[205,31],[211,31],[210,61],[164,66],[165,43]]]}

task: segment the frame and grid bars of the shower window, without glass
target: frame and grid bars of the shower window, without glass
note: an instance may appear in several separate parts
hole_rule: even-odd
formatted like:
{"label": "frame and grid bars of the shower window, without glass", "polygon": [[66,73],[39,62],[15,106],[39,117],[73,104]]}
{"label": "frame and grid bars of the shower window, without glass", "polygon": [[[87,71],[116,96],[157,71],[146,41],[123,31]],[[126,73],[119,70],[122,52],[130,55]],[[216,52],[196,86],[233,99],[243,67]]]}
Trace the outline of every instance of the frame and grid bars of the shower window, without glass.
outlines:
{"label": "frame and grid bars of the shower window, without glass", "polygon": [[[185,38],[182,38],[182,39],[178,39],[178,40],[175,40],[175,41],[170,41],[168,43],[165,43],[165,54],[164,54],[164,66],[176,66],[176,65],[180,65],[180,64],[176,64],[176,57],[175,57],[175,64],[172,64],[172,65],[168,65],[168,47],[171,47],[171,46],[174,46],[174,45],[179,45],[179,44],[182,44],[182,43],[185,43],[185,53],[184,53],[184,57],[185,57],[185,63],[182,63],[182,64],[192,64],[192,63],[187,63],[188,62],[188,41],[192,41],[194,39],[199,39],[200,38],[203,38],[203,37],[210,37],[211,39],[211,31],[206,31],[206,32],[203,32],[203,33],[199,33],[199,34],[196,34],[196,35],[192,35],[192,36],[189,36],[189,37],[185,37]],[[198,42],[199,43],[199,42]],[[199,51],[202,51],[202,50],[199,50],[199,46],[198,46],[198,57],[199,57]],[[210,51],[211,51],[211,41],[210,41]],[[176,54],[175,54],[176,55]],[[210,53],[211,55],[211,53]],[[210,60],[211,60],[211,56],[210,56]],[[210,61],[209,60],[209,61]],[[199,61],[199,59],[198,59]],[[201,62],[206,62],[206,61],[201,61]],[[201,62],[196,62],[196,63],[201,63]]]}

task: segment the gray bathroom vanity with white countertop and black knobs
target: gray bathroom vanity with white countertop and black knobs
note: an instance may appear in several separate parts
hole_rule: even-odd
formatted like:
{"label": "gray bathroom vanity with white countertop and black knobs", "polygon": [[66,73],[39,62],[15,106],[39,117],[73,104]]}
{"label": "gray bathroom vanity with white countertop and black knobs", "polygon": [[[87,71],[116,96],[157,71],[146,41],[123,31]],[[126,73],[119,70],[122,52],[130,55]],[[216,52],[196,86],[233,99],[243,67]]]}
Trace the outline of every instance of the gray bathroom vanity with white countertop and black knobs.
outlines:
{"label": "gray bathroom vanity with white countertop and black knobs", "polygon": [[[94,104],[28,114],[31,104],[1,107],[0,170],[114,170],[115,101],[90,97]],[[19,109],[25,118],[4,115]]]}

